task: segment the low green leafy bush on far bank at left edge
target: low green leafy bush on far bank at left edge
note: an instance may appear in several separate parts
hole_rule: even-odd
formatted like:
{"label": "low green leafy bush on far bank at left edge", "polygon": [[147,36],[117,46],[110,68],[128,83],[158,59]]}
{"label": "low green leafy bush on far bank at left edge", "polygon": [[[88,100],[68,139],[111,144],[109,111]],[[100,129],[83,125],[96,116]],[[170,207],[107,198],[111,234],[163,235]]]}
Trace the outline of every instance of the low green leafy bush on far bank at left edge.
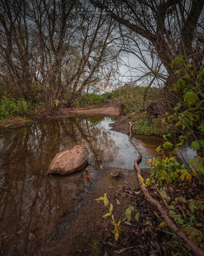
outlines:
{"label": "low green leafy bush on far bank at left edge", "polygon": [[22,116],[29,111],[29,104],[24,99],[21,101],[19,99],[3,97],[0,102],[1,118]]}

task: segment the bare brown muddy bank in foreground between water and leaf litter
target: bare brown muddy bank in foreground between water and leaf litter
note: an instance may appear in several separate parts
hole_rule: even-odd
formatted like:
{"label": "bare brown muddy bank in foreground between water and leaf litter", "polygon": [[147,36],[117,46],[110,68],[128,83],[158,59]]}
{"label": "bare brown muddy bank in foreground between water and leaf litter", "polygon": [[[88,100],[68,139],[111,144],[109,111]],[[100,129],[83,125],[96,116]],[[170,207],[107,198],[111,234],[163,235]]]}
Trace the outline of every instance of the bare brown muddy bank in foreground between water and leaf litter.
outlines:
{"label": "bare brown muddy bank in foreground between water and leaf litter", "polygon": [[[134,170],[117,170],[120,173],[119,177],[114,178],[111,175],[112,169],[104,168],[103,173],[92,187],[87,188],[88,192],[84,195],[84,200],[78,209],[78,216],[72,221],[70,229],[56,244],[43,247],[42,255],[95,255],[94,240],[100,241],[98,242],[97,255],[104,255],[105,250],[107,250],[108,255],[114,255],[115,247],[111,244],[104,246],[102,242],[110,241],[112,243],[114,227],[111,223],[111,217],[103,218],[103,215],[108,212],[108,207],[104,206],[103,201],[96,201],[95,199],[103,197],[104,193],[107,193],[108,200],[114,207],[114,219],[118,223],[124,218],[124,212],[129,207],[128,199],[118,193],[118,187],[128,184],[132,188],[139,188]],[[122,228],[125,228],[125,225]]]}

